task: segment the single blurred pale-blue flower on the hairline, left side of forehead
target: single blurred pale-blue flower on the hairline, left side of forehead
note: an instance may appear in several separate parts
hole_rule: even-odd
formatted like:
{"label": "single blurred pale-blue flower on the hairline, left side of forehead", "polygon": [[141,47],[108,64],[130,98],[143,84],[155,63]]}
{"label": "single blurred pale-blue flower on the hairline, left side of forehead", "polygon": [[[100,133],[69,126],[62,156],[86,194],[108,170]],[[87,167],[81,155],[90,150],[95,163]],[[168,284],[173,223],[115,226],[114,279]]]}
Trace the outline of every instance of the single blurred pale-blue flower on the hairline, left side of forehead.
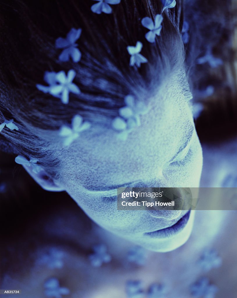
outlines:
{"label": "single blurred pale-blue flower on the hairline, left side of forehead", "polygon": [[63,125],[60,128],[59,135],[63,137],[63,145],[71,145],[71,143],[79,137],[79,134],[82,131],[85,131],[90,127],[91,124],[89,122],[83,122],[83,119],[80,115],[74,116],[71,127],[68,125]]}

